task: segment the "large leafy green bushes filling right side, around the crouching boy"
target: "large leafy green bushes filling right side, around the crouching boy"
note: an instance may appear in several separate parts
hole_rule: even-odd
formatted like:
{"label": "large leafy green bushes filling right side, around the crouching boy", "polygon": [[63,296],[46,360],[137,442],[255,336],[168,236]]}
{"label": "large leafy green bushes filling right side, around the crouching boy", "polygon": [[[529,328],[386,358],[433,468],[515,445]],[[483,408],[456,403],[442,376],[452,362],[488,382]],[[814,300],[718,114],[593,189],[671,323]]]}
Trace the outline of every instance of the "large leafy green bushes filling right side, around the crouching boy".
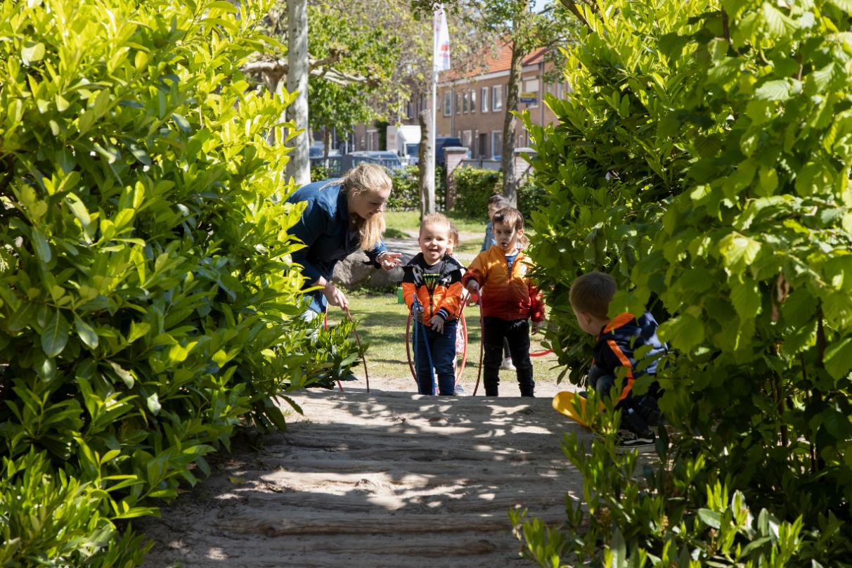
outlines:
{"label": "large leafy green bushes filling right side, around the crouching boy", "polygon": [[567,302],[580,273],[619,280],[610,315],[671,314],[660,405],[676,436],[661,431],[642,488],[635,463],[567,442],[596,520],[528,521],[527,554],[849,565],[849,6],[599,4],[569,54],[574,94],[547,100],[561,124],[525,117],[550,199],[532,255],[572,382],[590,364]]}

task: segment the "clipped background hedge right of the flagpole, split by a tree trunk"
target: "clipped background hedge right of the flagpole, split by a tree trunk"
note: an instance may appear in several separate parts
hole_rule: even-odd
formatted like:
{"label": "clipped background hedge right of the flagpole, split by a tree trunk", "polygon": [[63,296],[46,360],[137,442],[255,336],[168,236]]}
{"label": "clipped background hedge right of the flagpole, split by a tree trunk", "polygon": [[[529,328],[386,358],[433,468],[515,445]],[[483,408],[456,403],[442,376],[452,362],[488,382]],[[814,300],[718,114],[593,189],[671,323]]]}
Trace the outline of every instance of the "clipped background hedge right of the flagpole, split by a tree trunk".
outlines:
{"label": "clipped background hedge right of the flagpole, split by a tree trunk", "polygon": [[[456,200],[452,210],[474,219],[488,213],[488,199],[503,187],[503,172],[492,169],[458,168],[452,173],[456,183]],[[544,204],[546,192],[532,180],[518,186],[518,209],[527,219]]]}

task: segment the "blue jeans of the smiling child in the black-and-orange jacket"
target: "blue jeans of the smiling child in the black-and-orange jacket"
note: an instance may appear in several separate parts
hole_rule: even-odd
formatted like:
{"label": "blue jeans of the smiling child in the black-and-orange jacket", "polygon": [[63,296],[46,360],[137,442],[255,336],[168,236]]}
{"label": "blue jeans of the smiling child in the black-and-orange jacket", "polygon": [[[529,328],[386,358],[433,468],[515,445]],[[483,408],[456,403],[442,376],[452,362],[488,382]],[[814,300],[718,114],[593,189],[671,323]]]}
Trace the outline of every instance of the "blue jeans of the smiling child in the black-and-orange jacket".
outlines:
{"label": "blue jeans of the smiling child in the black-and-orange jacket", "polygon": [[[456,359],[456,325],[458,320],[449,319],[444,322],[444,333],[436,333],[429,325],[417,321],[417,345],[414,353],[417,356],[417,390],[420,394],[435,394],[435,376],[438,377],[438,393],[452,396],[456,389],[456,375],[452,362]],[[425,333],[423,330],[425,329]],[[426,345],[429,345],[429,354]],[[429,356],[432,366],[429,369]]]}

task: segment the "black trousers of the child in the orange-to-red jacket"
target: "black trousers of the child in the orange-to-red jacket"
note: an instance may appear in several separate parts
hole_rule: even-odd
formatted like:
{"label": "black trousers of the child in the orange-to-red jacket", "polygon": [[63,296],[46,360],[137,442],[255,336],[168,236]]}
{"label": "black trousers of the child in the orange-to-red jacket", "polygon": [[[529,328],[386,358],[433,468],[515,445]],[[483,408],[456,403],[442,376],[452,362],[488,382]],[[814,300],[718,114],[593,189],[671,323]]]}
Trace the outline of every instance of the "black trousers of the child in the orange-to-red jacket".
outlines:
{"label": "black trousers of the child in the orange-to-red jacket", "polygon": [[498,396],[500,384],[500,364],[503,363],[503,341],[509,342],[509,356],[518,374],[518,386],[521,396],[533,396],[533,363],[530,362],[530,323],[528,319],[505,319],[488,316],[482,321],[482,344],[485,356],[482,362],[482,381],[485,383],[485,395]]}

